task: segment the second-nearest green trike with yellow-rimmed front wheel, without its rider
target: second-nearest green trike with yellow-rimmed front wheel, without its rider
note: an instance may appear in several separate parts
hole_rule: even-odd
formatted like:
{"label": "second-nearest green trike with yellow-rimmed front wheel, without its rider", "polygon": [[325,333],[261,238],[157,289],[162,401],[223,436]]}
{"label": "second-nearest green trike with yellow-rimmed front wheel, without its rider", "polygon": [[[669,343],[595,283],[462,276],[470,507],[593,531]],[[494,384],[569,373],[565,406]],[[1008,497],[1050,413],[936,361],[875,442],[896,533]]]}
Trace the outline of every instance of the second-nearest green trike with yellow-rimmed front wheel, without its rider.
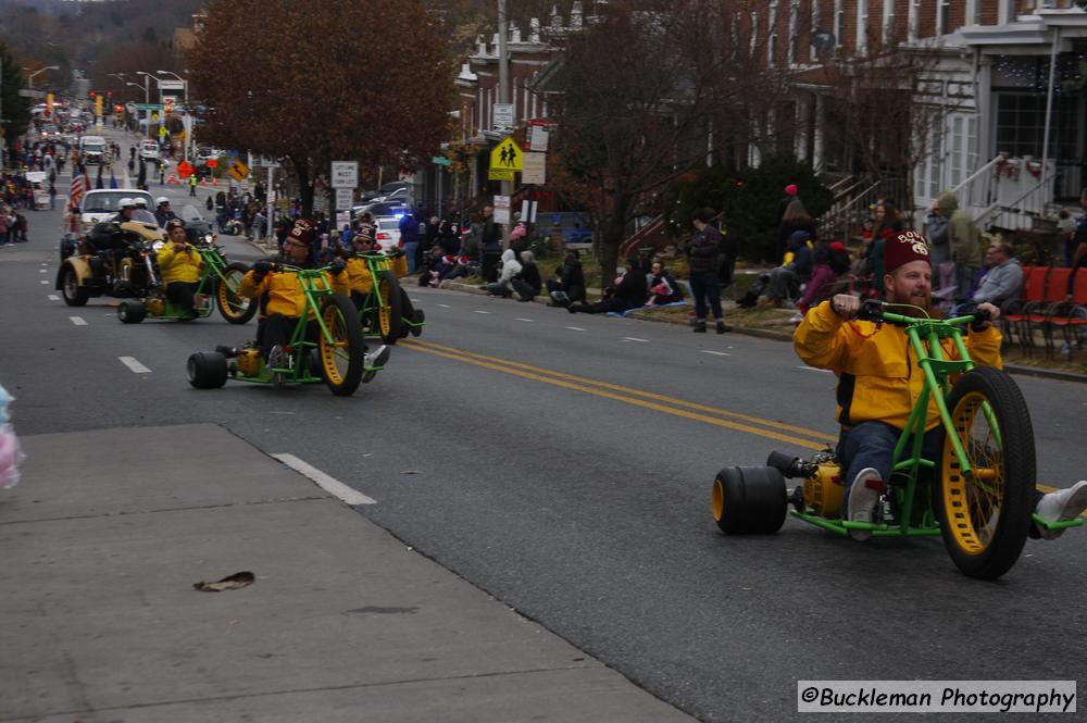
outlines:
{"label": "second-nearest green trike with yellow-rimmed front wheel, without its rider", "polygon": [[[327,285],[327,269],[280,264],[276,270],[298,275],[308,311],[298,319],[276,365],[263,359],[255,342],[239,349],[220,347],[189,357],[189,384],[211,389],[222,387],[228,378],[275,386],[324,383],[334,395],[354,394],[360,383],[370,382],[383,369],[365,365],[366,341],[354,304]],[[316,341],[309,338],[311,321],[317,326]]]}

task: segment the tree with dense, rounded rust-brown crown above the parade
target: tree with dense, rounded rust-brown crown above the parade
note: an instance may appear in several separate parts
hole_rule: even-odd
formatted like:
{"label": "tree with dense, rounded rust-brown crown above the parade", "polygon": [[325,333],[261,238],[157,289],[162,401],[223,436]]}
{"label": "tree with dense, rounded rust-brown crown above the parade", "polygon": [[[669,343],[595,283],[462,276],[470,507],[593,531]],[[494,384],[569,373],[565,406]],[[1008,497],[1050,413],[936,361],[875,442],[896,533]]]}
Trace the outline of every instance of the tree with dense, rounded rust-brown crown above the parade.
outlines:
{"label": "tree with dense, rounded rust-brown crown above the parade", "polygon": [[[418,0],[211,0],[187,54],[208,140],[284,158],[302,208],[334,160],[413,169],[448,137],[453,63]],[[275,33],[238,28],[261,17]]]}

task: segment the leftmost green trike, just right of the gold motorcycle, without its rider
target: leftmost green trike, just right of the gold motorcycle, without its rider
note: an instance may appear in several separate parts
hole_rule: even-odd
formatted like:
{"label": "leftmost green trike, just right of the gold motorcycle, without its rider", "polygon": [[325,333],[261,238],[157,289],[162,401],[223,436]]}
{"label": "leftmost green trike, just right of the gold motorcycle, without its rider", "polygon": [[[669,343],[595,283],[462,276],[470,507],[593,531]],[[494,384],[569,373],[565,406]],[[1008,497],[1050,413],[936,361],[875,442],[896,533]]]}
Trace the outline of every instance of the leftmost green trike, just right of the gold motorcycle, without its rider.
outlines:
{"label": "leftmost green trike, just right of the gold motorcycle, without its rider", "polygon": [[[197,290],[195,310],[197,319],[207,319],[218,306],[223,319],[232,324],[245,324],[257,313],[257,304],[238,296],[238,286],[249,266],[228,262],[223,247],[214,242],[193,244],[192,248],[204,262]],[[157,284],[152,296],[145,299],[124,299],[117,307],[117,319],[123,324],[139,324],[146,317],[188,321],[192,319],[166,298],[165,286]]]}

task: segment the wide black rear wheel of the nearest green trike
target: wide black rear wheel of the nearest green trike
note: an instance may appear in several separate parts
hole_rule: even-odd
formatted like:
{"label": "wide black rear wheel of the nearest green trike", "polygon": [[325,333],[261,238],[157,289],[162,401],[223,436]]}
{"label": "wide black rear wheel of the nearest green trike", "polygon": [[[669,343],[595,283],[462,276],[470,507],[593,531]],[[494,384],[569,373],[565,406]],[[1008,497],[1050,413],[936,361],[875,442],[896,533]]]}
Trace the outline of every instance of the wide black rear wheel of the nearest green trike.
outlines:
{"label": "wide black rear wheel of the nearest green trike", "polygon": [[770,466],[730,466],[713,481],[713,520],[728,535],[776,533],[788,507],[785,477]]}

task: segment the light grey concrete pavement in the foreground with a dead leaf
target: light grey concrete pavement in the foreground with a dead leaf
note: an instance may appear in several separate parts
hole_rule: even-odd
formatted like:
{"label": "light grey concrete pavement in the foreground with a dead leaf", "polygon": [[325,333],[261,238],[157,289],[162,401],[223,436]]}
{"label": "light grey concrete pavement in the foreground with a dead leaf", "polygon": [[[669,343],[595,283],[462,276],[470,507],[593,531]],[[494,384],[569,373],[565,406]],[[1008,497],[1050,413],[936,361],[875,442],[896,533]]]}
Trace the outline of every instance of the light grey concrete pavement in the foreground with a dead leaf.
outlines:
{"label": "light grey concrete pavement in the foreground with a dead leaf", "polygon": [[692,720],[222,427],[22,441],[0,721]]}

